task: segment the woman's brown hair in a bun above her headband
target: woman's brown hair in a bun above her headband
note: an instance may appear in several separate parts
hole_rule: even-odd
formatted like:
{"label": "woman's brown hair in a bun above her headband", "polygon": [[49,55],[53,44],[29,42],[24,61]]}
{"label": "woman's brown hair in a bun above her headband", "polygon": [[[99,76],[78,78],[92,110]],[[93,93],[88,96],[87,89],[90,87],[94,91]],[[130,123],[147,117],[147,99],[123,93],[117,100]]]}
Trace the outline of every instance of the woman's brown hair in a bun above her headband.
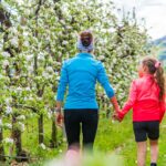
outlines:
{"label": "woman's brown hair in a bun above her headband", "polygon": [[80,33],[80,40],[83,46],[89,46],[93,41],[93,34],[91,31],[83,31]]}

